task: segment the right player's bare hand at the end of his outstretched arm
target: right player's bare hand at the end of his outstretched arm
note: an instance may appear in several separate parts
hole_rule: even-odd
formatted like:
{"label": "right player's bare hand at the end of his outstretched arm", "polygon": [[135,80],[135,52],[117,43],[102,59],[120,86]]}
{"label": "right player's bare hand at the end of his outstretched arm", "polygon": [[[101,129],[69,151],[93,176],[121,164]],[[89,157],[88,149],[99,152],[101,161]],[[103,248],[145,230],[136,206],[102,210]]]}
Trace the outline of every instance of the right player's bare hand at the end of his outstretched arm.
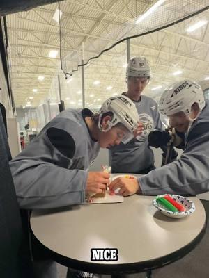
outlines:
{"label": "right player's bare hand at the end of his outstretched arm", "polygon": [[121,188],[118,193],[123,196],[141,192],[137,179],[118,177],[109,184],[109,190],[116,190],[117,188]]}

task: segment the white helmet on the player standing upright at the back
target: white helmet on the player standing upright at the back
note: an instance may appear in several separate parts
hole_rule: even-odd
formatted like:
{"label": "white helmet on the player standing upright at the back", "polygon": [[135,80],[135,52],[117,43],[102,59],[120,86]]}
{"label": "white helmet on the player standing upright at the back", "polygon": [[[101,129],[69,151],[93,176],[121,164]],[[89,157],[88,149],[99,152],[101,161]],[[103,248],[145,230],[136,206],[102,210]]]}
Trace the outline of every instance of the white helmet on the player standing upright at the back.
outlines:
{"label": "white helmet on the player standing upright at the back", "polygon": [[145,57],[132,57],[130,58],[127,68],[126,77],[147,77],[151,76],[150,65]]}

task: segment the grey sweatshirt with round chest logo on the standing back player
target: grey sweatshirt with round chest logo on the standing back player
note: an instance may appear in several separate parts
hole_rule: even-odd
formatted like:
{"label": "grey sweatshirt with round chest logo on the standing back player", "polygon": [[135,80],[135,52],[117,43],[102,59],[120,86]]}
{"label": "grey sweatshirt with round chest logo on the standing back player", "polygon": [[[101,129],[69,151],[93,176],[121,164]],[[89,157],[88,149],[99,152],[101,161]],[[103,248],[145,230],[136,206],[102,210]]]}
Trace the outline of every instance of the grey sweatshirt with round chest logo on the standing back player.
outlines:
{"label": "grey sweatshirt with round chest logo on the standing back player", "polygon": [[110,165],[113,172],[136,173],[154,163],[153,151],[148,147],[148,134],[153,129],[162,129],[160,114],[156,102],[150,97],[141,95],[141,101],[133,101],[144,125],[142,136],[124,145],[116,145],[109,149]]}

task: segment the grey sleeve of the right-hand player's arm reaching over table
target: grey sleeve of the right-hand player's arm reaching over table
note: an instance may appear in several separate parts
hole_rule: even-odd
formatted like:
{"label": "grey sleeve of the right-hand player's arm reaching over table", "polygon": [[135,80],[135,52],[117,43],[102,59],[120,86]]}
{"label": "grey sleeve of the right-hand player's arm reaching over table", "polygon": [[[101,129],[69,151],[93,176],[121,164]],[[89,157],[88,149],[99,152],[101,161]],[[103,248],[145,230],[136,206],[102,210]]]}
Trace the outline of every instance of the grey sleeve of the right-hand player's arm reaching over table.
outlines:
{"label": "grey sleeve of the right-hand player's arm reaching over table", "polygon": [[178,161],[139,177],[143,195],[196,195],[209,190],[209,143],[193,142]]}

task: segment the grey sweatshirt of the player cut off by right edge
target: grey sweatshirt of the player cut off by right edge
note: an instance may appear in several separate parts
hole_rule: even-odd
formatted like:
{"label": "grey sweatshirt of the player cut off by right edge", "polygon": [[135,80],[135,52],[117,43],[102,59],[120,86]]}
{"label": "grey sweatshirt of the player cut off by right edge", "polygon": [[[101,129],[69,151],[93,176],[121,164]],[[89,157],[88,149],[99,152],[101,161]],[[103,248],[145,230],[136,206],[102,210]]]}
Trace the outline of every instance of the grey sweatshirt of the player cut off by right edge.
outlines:
{"label": "grey sweatshirt of the player cut off by right edge", "polygon": [[209,191],[209,102],[192,123],[178,161],[139,178],[142,194],[196,195]]}

